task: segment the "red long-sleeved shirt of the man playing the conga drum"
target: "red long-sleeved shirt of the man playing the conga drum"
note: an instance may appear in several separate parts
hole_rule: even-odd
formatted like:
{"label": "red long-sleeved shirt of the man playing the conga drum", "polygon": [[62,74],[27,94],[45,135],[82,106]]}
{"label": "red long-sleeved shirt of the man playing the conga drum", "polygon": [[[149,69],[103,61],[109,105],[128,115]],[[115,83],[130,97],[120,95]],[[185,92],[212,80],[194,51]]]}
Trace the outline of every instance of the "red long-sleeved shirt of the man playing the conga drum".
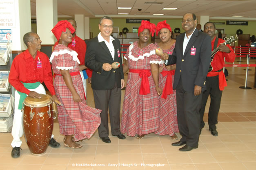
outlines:
{"label": "red long-sleeved shirt of the man playing the conga drum", "polygon": [[[37,68],[38,61],[42,62],[42,67]],[[19,92],[29,95],[30,91],[24,87],[23,83],[45,82],[45,85],[55,95],[53,88],[53,77],[49,57],[40,51],[37,51],[35,59],[29,53],[29,50],[17,55],[12,64],[9,73],[9,83]]]}

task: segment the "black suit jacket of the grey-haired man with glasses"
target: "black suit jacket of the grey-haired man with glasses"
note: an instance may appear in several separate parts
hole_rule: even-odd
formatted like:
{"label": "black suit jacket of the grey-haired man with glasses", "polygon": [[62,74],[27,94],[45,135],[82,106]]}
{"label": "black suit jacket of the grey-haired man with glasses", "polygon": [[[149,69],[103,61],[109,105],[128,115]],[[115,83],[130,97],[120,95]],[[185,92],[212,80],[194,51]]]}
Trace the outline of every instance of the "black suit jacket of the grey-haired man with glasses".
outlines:
{"label": "black suit jacket of the grey-haired man with glasses", "polygon": [[[115,60],[113,60],[109,49],[105,42],[99,42],[98,37],[95,37],[87,42],[87,50],[85,54],[85,66],[91,68],[91,88],[94,90],[108,90],[112,89],[117,83],[118,88],[121,87],[121,79],[124,79],[122,70],[122,57],[118,57],[118,50],[120,51],[120,42],[114,38],[112,41],[115,48]],[[111,71],[104,71],[102,65],[104,63],[112,64],[119,62],[120,67],[111,69]]]}

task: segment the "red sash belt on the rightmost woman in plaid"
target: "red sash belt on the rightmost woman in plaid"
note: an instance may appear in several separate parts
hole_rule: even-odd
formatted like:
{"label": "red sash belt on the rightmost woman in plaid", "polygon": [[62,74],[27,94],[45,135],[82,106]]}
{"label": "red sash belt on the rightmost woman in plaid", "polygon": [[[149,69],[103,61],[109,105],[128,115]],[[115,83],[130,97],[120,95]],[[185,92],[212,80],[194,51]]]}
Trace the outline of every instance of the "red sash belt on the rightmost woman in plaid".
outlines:
{"label": "red sash belt on the rightmost woman in plaid", "polygon": [[166,77],[166,82],[165,82],[165,87],[163,89],[163,94],[162,94],[162,98],[166,99],[167,95],[172,94],[173,90],[172,90],[172,77],[171,75],[175,74],[175,70],[171,70],[171,71],[162,71],[161,74]]}

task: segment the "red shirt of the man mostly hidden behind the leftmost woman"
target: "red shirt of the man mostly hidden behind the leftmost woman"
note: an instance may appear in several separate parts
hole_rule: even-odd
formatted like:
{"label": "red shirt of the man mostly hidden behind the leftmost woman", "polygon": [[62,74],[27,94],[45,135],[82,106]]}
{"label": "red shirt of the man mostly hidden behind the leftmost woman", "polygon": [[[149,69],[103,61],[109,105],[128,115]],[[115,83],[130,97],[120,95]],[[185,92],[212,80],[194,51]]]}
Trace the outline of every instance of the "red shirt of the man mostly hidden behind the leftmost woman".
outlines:
{"label": "red shirt of the man mostly hidden behind the leftmost woman", "polygon": [[[72,42],[75,40],[76,44],[75,46],[72,46]],[[68,44],[67,47],[72,49],[73,51],[76,51],[78,53],[78,60],[80,61],[79,65],[85,65],[85,53],[86,53],[86,44],[85,41],[79,38],[77,35],[75,37],[72,37],[72,42]],[[58,45],[59,42],[55,42],[54,47]],[[91,77],[92,75],[92,70],[87,68],[85,69],[88,77]]]}

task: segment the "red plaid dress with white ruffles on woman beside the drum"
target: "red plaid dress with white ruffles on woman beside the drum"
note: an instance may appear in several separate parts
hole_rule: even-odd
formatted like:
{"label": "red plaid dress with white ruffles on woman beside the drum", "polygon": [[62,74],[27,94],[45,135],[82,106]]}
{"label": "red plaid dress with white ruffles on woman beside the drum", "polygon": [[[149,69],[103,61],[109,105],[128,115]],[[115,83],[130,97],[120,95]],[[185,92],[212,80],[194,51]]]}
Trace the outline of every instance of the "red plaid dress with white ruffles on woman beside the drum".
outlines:
{"label": "red plaid dress with white ruffles on woman beside the drum", "polygon": [[69,88],[60,74],[60,70],[69,70],[69,73],[79,71],[76,51],[67,46],[59,44],[53,51],[50,62],[52,62],[54,79],[54,89],[58,100],[62,103],[58,107],[58,120],[60,133],[63,135],[74,135],[75,141],[90,138],[100,125],[101,110],[91,108],[86,105],[84,97],[84,88],[80,74],[71,76],[76,92],[79,94],[82,102],[74,102]]}

